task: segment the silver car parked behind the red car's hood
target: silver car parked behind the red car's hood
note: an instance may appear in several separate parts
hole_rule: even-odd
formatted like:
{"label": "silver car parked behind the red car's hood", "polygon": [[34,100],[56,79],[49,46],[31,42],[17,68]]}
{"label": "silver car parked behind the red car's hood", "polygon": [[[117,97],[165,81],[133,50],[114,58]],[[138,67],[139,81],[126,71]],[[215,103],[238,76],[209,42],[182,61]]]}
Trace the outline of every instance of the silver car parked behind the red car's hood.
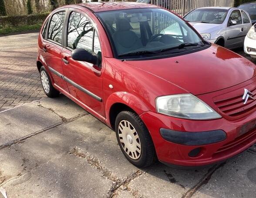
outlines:
{"label": "silver car parked behind the red car's hood", "polygon": [[184,19],[205,40],[229,49],[243,47],[244,38],[252,26],[248,13],[238,8],[197,8]]}

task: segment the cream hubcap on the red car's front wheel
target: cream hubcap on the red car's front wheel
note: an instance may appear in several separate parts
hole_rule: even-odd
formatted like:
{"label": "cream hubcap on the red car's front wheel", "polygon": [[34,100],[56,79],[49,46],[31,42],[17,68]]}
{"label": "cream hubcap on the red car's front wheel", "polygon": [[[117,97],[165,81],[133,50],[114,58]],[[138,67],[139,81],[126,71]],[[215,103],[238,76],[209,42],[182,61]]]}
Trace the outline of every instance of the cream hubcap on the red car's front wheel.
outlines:
{"label": "cream hubcap on the red car's front wheel", "polygon": [[129,121],[121,120],[118,125],[118,137],[125,153],[131,159],[138,159],[141,156],[140,138]]}

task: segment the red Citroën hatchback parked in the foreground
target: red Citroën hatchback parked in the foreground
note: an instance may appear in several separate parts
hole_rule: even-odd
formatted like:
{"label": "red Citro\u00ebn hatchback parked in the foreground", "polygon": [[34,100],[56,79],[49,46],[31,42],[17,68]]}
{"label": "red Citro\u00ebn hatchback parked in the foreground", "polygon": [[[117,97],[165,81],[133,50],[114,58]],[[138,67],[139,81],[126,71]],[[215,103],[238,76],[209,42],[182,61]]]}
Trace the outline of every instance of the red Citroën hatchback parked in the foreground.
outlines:
{"label": "red Citro\u00ebn hatchback parked in the foreground", "polygon": [[135,166],[205,166],[256,143],[256,65],[204,41],[168,10],[60,7],[38,44],[45,94],[66,95],[115,130]]}

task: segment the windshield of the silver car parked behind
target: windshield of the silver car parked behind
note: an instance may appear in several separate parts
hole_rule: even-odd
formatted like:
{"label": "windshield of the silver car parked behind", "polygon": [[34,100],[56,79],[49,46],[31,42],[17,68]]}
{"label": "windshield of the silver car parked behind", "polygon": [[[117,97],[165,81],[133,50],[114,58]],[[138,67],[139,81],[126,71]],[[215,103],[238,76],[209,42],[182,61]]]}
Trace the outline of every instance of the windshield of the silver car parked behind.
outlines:
{"label": "windshield of the silver car parked behind", "polygon": [[184,19],[195,23],[221,24],[227,16],[228,10],[224,9],[196,9],[187,14]]}

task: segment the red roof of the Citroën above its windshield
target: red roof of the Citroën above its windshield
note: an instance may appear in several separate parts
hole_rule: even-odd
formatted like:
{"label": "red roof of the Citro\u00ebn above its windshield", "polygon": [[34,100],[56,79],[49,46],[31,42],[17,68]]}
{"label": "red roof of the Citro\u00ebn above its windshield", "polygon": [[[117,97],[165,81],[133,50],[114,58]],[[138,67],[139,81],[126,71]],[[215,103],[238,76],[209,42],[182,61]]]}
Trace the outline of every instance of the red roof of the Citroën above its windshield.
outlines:
{"label": "red roof of the Citro\u00ebn above its windshield", "polygon": [[[91,2],[91,3],[79,3],[76,4],[79,6],[84,6],[91,10],[91,12],[104,12],[110,10],[127,10],[127,9],[136,9],[136,8],[159,8],[147,3],[135,3],[135,2]],[[69,5],[72,6],[72,5]]]}

